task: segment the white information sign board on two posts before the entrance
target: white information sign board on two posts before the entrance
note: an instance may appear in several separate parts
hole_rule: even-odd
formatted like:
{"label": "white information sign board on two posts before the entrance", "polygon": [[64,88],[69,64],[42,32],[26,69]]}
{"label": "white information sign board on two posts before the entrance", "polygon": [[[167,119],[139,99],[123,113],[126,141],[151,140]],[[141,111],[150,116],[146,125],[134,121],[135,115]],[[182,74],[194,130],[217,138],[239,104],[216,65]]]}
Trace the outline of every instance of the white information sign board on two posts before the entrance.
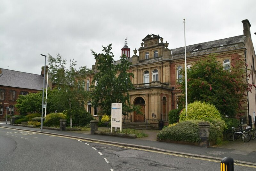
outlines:
{"label": "white information sign board on two posts before the entrance", "polygon": [[111,104],[111,132],[112,128],[120,128],[122,131],[122,103]]}

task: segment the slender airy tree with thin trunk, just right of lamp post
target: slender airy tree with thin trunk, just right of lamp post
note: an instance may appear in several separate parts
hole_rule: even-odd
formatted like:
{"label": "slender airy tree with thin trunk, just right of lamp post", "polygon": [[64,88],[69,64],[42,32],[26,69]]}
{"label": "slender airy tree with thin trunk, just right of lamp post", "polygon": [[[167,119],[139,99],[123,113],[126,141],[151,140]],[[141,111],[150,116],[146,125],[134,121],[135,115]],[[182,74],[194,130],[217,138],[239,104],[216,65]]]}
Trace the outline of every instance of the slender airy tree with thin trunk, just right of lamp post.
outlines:
{"label": "slender airy tree with thin trunk, just right of lamp post", "polygon": [[82,78],[83,75],[88,74],[89,70],[83,66],[77,71],[74,68],[76,66],[74,59],[70,60],[69,68],[66,68],[66,59],[63,59],[60,54],[56,58],[48,55],[48,63],[50,79],[57,85],[52,96],[48,98],[54,109],[70,117],[72,128],[72,117],[79,115],[79,112],[84,109],[84,101],[87,101],[89,97],[89,92],[84,89],[83,79],[76,81],[76,77]]}

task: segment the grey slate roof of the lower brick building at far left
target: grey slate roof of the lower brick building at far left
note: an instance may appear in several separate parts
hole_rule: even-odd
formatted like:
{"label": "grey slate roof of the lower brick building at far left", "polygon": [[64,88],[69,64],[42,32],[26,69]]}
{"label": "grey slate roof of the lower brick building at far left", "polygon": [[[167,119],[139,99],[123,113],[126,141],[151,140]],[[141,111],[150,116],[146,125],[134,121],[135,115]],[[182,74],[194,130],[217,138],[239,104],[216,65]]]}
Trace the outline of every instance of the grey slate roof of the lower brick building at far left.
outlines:
{"label": "grey slate roof of the lower brick building at far left", "polygon": [[[23,89],[43,89],[44,77],[42,75],[13,71],[0,68],[0,86],[16,87]],[[46,81],[45,85],[46,87]]]}

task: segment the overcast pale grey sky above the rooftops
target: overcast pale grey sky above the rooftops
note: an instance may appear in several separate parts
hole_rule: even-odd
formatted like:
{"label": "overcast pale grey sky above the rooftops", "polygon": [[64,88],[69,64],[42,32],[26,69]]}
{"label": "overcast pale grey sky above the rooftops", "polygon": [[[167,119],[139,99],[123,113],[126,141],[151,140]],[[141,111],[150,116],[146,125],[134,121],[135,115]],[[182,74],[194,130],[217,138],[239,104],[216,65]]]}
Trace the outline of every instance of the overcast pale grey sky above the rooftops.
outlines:
{"label": "overcast pale grey sky above the rooftops", "polygon": [[0,0],[0,68],[40,74],[40,54],[58,53],[92,68],[91,49],[112,43],[118,60],[125,36],[131,56],[148,34],[182,47],[183,19],[186,45],[243,35],[248,19],[256,46],[255,10],[255,0]]}

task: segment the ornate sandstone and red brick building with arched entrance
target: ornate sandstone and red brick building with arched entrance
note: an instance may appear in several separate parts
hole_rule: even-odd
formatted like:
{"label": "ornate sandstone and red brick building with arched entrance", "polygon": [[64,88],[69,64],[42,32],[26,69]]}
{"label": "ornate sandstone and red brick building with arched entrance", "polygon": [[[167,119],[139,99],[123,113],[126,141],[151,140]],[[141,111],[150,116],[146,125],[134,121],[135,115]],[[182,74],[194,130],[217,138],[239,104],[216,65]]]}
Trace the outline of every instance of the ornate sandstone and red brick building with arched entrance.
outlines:
{"label": "ornate sandstone and red brick building with arched entrance", "polygon": [[[248,19],[243,20],[242,23],[242,35],[186,46],[187,67],[211,53],[217,54],[217,59],[223,64],[224,69],[230,69],[230,64],[235,59],[245,59],[249,69],[252,69],[253,72],[252,77],[248,78],[248,82],[254,84],[254,58],[256,56],[251,39],[251,24]],[[164,43],[163,40],[159,35],[147,35],[142,39],[141,47],[138,50],[136,48],[133,51],[134,55],[127,59],[132,63],[127,72],[134,74],[132,83],[135,87],[135,90],[129,92],[130,101],[134,105],[140,105],[144,113],[144,116],[130,113],[129,119],[132,122],[147,120],[149,123],[157,125],[159,120],[163,120],[167,123],[168,111],[177,108],[177,100],[182,95],[175,88],[181,77],[179,70],[185,67],[185,48],[168,48],[168,43],[166,41]],[[130,55],[127,44],[122,48],[122,54]],[[118,62],[116,61],[116,63]],[[89,90],[94,74],[98,72],[97,63],[92,66],[92,71],[92,74],[87,75],[84,80],[87,90]],[[248,124],[250,117],[253,122],[256,111],[255,97],[255,89],[252,89],[252,92],[248,92],[245,97],[246,102],[242,104],[244,123]],[[98,118],[98,109],[93,107],[90,101],[86,108],[92,116]]]}

